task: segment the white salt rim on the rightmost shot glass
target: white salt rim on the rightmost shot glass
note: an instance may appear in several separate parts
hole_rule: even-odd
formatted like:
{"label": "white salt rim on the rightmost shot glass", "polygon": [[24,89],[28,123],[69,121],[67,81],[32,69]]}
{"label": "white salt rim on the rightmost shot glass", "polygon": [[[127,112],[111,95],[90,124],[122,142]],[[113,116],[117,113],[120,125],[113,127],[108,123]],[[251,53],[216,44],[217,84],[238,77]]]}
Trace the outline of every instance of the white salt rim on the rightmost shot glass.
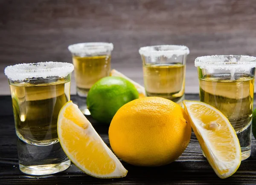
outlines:
{"label": "white salt rim on the rightmost shot glass", "polygon": [[256,67],[256,57],[247,55],[211,55],[195,59],[195,67],[201,69],[223,69],[249,71]]}

